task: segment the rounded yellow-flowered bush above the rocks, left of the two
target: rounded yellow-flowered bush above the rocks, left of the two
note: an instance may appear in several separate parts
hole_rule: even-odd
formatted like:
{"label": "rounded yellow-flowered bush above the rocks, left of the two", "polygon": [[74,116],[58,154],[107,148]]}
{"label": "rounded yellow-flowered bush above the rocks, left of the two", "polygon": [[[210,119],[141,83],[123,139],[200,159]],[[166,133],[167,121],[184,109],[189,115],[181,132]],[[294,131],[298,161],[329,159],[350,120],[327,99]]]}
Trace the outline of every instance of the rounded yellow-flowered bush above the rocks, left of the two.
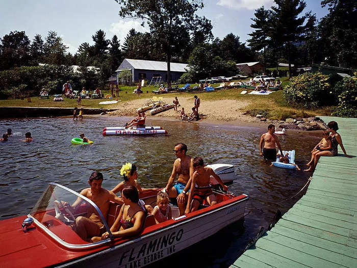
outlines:
{"label": "rounded yellow-flowered bush above the rocks, left of the two", "polygon": [[333,92],[330,91],[328,78],[320,72],[316,74],[306,72],[294,77],[290,84],[284,87],[285,99],[289,104],[301,105],[304,108],[317,108],[330,104],[333,101],[331,98]]}

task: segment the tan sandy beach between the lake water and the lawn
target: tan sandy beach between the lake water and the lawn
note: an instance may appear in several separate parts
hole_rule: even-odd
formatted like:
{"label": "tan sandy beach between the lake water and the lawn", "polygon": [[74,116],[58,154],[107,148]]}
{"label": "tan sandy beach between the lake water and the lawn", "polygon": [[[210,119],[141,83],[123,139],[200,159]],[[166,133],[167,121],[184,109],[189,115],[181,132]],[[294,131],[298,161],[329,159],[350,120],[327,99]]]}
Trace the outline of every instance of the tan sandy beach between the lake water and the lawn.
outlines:
{"label": "tan sandy beach between the lake water and the lawn", "polygon": [[[165,103],[172,103],[174,95],[163,96],[163,101]],[[120,103],[112,108],[118,109],[114,112],[110,112],[111,115],[119,116],[135,116],[137,109],[145,104],[147,98],[140,98],[131,102]],[[179,98],[181,107],[178,107],[179,112],[173,109],[161,112],[153,117],[169,117],[180,119],[180,111],[182,107],[185,108],[186,114],[192,112],[192,107],[194,106],[194,98],[181,97]],[[244,122],[258,122],[257,118],[251,117],[249,115],[244,115],[244,108],[249,105],[249,101],[237,101],[237,100],[219,100],[219,101],[202,101],[198,109],[201,120],[214,119],[220,121],[244,121]],[[147,116],[151,116],[147,111]]]}

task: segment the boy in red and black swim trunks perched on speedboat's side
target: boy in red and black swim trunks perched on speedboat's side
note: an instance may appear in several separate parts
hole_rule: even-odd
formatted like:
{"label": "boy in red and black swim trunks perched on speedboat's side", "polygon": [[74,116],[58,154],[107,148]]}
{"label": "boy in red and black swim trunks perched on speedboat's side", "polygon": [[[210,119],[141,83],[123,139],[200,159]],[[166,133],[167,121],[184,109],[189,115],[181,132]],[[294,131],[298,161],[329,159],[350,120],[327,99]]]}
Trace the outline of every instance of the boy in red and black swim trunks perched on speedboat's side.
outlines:
{"label": "boy in red and black swim trunks perched on speedboat's side", "polygon": [[185,213],[197,210],[204,200],[206,200],[210,206],[217,204],[216,196],[212,192],[210,185],[211,176],[217,180],[225,191],[228,190],[228,187],[223,184],[221,178],[219,178],[213,169],[205,166],[201,157],[195,157],[192,166],[194,173],[192,175],[191,189]]}

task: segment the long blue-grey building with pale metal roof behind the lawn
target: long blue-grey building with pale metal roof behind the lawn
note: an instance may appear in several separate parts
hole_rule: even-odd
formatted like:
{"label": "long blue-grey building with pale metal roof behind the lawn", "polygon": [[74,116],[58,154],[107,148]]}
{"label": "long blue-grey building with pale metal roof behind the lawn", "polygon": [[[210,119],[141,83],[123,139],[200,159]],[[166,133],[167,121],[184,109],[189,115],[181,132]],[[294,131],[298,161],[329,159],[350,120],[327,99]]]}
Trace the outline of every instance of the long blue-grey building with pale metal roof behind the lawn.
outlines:
{"label": "long blue-grey building with pale metal roof behind the lawn", "polygon": [[[187,64],[185,63],[170,63],[171,81],[178,80],[186,72]],[[150,61],[150,60],[134,60],[124,59],[115,71],[117,74],[117,82],[120,83],[120,72],[130,71],[130,82],[146,79],[151,81],[153,77],[161,77],[161,81],[167,81],[167,62],[165,61]]]}

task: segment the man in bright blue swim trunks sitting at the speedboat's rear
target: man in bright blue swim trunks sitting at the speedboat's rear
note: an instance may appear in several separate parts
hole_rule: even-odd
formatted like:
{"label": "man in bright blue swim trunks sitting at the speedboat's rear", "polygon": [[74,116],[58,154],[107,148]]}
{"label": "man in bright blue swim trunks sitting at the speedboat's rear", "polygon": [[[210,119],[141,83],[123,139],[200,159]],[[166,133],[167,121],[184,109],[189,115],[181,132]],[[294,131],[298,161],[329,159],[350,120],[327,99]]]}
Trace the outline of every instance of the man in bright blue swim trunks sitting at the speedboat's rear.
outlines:
{"label": "man in bright blue swim trunks sitting at the speedboat's rear", "polygon": [[[186,155],[187,145],[184,143],[175,144],[174,154],[177,159],[173,163],[172,173],[164,190],[169,198],[176,198],[180,209],[180,216],[185,213],[185,203],[187,201],[187,192],[190,189],[189,180],[193,173],[191,156]],[[179,176],[178,182],[172,186],[173,180]]]}

